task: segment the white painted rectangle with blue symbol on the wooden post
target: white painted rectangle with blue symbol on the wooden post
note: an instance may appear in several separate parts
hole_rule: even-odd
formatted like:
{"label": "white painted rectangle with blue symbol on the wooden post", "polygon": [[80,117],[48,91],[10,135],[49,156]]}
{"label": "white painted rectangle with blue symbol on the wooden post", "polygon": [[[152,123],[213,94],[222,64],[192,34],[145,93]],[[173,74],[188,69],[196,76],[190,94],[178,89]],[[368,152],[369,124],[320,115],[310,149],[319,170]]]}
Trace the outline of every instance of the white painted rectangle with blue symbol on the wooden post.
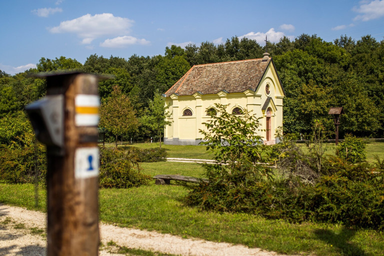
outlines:
{"label": "white painted rectangle with blue symbol on the wooden post", "polygon": [[79,147],[74,154],[74,177],[90,178],[98,175],[98,147]]}

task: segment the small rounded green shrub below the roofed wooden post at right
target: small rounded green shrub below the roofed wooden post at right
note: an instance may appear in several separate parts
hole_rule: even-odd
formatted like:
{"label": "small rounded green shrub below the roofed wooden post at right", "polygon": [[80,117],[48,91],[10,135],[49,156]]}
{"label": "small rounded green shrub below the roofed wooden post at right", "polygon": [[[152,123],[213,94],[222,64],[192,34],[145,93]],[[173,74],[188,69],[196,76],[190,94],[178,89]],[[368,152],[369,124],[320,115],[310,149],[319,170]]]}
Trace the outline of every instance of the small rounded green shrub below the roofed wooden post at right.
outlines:
{"label": "small rounded green shrub below the roofed wooden post at right", "polygon": [[366,159],[365,144],[361,138],[345,134],[344,140],[337,145],[336,154],[349,162],[361,162]]}

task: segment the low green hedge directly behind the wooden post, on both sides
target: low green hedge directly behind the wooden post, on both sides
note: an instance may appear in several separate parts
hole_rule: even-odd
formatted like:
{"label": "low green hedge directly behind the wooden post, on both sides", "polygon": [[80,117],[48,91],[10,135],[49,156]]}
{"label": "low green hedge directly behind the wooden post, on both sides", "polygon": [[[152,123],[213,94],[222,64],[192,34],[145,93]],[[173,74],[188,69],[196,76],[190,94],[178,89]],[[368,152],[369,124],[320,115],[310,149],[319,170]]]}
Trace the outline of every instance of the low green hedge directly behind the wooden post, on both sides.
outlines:
{"label": "low green hedge directly behind the wooden post, on both sides", "polygon": [[[115,148],[100,148],[100,187],[126,188],[147,184],[150,177],[140,173],[135,154]],[[0,180],[32,183],[46,180],[45,146],[3,147],[0,149]]]}

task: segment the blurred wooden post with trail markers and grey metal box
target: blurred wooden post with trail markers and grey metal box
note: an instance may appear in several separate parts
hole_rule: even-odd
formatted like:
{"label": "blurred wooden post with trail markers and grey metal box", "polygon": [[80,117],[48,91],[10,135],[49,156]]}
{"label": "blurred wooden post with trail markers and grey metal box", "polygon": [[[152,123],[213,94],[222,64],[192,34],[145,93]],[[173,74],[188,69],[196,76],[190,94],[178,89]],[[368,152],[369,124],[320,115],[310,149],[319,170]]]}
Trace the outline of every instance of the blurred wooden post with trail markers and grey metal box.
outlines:
{"label": "blurred wooden post with trail markers and grey metal box", "polygon": [[43,99],[26,106],[47,152],[47,255],[98,255],[98,77],[46,75]]}

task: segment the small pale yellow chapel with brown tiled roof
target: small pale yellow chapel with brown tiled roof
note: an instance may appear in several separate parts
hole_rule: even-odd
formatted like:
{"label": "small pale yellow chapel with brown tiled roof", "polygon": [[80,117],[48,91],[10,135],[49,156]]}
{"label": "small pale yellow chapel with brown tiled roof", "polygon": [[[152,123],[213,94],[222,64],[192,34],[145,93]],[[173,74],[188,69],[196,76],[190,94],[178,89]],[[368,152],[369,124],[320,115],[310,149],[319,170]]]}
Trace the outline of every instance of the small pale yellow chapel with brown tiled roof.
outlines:
{"label": "small pale yellow chapel with brown tiled roof", "polygon": [[215,103],[232,114],[243,109],[260,119],[256,134],[265,144],[278,142],[275,130],[282,127],[284,88],[268,53],[263,58],[192,66],[165,94],[170,126],[164,129],[164,144],[198,145],[201,124]]}

